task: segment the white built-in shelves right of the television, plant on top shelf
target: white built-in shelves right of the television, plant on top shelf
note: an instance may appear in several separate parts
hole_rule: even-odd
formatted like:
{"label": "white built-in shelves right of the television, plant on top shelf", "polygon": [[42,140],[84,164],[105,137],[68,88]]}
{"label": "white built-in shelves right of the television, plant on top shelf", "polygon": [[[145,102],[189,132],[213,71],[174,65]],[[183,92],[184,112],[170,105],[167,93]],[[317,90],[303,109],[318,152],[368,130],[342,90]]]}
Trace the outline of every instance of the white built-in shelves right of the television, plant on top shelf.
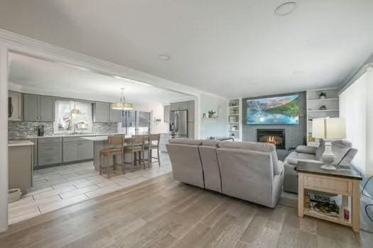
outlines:
{"label": "white built-in shelves right of the television, plant on top shelf", "polygon": [[[324,92],[325,97],[320,98]],[[312,120],[315,118],[339,117],[340,101],[338,97],[339,89],[317,89],[307,91],[307,145],[318,147],[318,139],[312,137]],[[325,109],[323,108],[325,107]]]}

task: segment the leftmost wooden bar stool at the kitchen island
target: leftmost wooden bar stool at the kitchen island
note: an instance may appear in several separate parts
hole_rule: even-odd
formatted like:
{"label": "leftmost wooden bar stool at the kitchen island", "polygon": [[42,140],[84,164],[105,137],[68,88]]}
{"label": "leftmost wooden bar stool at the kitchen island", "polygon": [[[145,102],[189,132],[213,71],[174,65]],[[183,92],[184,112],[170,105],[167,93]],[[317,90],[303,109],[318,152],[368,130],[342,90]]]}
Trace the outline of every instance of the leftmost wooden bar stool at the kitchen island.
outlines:
{"label": "leftmost wooden bar stool at the kitchen island", "polygon": [[[102,175],[102,171],[106,171],[107,178],[110,177],[110,171],[114,170],[116,165],[121,166],[121,170],[123,174],[124,171],[124,156],[123,156],[123,145],[124,145],[124,137],[123,136],[109,136],[107,137],[107,143],[109,147],[103,148],[99,150],[99,174]],[[116,159],[114,157],[120,155],[121,156],[121,164],[117,164]],[[107,157],[107,166],[102,166],[102,159]],[[113,157],[113,164],[109,165],[109,158]]]}

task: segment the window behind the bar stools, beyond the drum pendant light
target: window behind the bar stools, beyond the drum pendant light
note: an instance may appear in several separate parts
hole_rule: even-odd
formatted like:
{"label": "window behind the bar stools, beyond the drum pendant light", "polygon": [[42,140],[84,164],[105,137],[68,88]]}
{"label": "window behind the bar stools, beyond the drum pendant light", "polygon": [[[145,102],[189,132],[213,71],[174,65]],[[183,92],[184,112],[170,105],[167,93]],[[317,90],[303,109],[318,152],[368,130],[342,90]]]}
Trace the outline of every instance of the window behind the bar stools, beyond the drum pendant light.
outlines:
{"label": "window behind the bar stools, beyond the drum pendant light", "polygon": [[148,134],[151,132],[151,112],[123,111],[121,124],[126,135]]}

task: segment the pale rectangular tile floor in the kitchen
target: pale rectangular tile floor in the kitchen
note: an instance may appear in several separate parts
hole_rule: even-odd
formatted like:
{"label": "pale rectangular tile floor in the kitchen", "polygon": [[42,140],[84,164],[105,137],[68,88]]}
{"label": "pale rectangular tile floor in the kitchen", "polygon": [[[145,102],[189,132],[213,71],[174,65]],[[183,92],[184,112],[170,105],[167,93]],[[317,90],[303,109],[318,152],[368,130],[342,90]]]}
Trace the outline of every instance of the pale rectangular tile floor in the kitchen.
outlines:
{"label": "pale rectangular tile floor in the kitchen", "polygon": [[34,187],[19,201],[9,203],[9,224],[33,218],[67,205],[80,203],[105,193],[139,184],[156,176],[171,172],[168,154],[161,153],[161,167],[153,162],[151,168],[137,166],[134,171],[99,176],[93,162],[50,167],[34,171]]}

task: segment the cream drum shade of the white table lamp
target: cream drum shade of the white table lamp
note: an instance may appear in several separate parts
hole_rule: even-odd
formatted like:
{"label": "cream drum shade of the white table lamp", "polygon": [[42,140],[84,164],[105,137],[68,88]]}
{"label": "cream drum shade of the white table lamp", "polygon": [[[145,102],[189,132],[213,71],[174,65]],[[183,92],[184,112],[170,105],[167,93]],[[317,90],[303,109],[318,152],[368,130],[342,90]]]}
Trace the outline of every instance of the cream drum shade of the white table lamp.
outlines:
{"label": "cream drum shade of the white table lamp", "polygon": [[312,136],[319,139],[344,139],[346,125],[344,118],[317,118],[312,122]]}

